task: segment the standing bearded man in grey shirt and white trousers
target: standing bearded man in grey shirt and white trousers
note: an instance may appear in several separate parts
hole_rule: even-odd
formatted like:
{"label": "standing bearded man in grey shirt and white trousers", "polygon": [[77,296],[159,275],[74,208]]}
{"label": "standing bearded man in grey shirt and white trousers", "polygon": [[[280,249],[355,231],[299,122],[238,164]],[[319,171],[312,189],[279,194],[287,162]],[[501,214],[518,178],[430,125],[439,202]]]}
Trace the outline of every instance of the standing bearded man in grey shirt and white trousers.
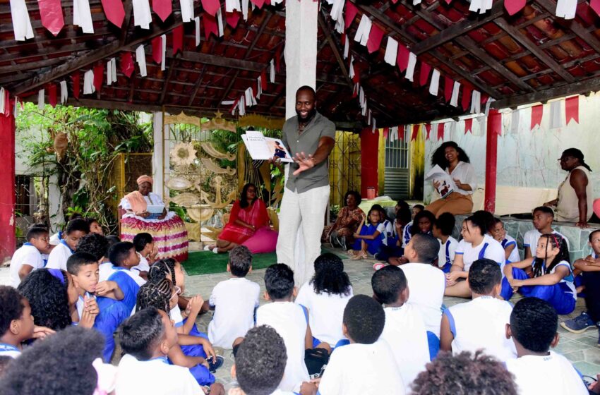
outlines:
{"label": "standing bearded man in grey shirt and white trousers", "polygon": [[[315,90],[309,86],[296,91],[296,116],[285,121],[282,142],[294,163],[289,174],[280,211],[277,262],[294,269],[297,285],[311,279],[313,262],[320,255],[320,231],[329,205],[327,159],[335,144],[335,125],[316,110]],[[280,163],[277,158],[273,158]],[[294,248],[301,227],[304,260],[296,262]]]}

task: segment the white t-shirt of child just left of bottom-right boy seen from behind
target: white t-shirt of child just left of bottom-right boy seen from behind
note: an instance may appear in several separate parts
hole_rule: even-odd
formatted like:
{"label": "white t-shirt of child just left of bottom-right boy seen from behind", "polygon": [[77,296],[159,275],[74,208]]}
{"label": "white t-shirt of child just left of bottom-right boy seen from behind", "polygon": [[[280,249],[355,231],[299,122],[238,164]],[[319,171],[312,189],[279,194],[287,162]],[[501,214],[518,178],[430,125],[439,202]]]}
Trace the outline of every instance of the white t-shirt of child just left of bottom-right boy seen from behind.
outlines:
{"label": "white t-shirt of child just left of bottom-right boy seen from behind", "polygon": [[501,361],[517,358],[515,344],[505,335],[511,312],[510,303],[491,296],[480,296],[448,308],[444,314],[454,335],[452,353],[474,353],[483,348],[486,354]]}

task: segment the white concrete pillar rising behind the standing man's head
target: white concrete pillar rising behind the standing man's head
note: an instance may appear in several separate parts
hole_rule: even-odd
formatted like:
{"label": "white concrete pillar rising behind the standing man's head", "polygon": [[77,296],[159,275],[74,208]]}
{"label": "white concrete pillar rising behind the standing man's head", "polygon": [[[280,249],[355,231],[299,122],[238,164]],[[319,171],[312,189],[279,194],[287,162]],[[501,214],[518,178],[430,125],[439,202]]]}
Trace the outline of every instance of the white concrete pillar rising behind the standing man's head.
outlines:
{"label": "white concrete pillar rising behind the standing man's head", "polygon": [[296,115],[296,90],[316,88],[318,2],[285,4],[285,119]]}

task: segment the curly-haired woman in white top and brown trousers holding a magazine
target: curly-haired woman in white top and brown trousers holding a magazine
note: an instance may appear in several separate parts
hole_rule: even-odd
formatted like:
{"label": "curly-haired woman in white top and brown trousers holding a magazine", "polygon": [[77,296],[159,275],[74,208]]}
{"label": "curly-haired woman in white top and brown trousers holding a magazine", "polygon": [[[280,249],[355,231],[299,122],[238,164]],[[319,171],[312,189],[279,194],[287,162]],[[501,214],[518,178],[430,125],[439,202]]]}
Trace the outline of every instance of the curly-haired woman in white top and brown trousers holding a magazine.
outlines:
{"label": "curly-haired woman in white top and brown trousers holding a magazine", "polygon": [[[467,214],[473,209],[472,195],[477,188],[475,169],[469,163],[469,157],[464,153],[456,142],[444,142],[433,152],[431,157],[432,166],[440,166],[452,178],[454,186],[443,185],[441,181],[433,181],[433,186],[444,197],[425,207],[438,217],[443,212],[451,214]],[[452,192],[448,193],[448,188]]]}

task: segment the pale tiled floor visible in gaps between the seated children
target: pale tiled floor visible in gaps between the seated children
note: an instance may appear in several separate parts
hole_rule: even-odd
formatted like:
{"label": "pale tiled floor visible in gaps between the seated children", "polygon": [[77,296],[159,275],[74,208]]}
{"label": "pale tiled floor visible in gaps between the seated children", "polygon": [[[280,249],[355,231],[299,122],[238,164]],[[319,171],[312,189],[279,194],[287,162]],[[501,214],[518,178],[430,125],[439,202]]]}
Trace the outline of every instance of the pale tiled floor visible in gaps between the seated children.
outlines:
{"label": "pale tiled floor visible in gaps between the seated children", "polygon": [[[354,293],[364,293],[371,295],[371,276],[373,275],[371,260],[352,261],[344,260],[344,268],[349,274],[350,281],[354,287]],[[263,276],[265,269],[259,269],[248,274],[248,279],[256,281],[260,284],[261,295],[265,289]],[[212,288],[225,279],[229,278],[227,273],[220,274],[205,274],[202,276],[186,276],[186,295],[194,295],[200,293],[205,299],[210,296]],[[0,269],[0,284],[10,284],[9,269],[4,267]],[[520,296],[513,297],[512,301],[515,302]],[[444,303],[447,306],[462,303],[465,300],[460,298],[445,298]],[[261,300],[260,303],[265,303],[265,300]],[[579,315],[584,309],[583,300],[577,300],[577,308],[575,312],[572,312],[569,316],[560,316],[559,320],[567,320],[568,318]],[[208,322],[210,322],[211,313],[207,313],[198,318],[198,329],[202,332],[206,332]],[[580,372],[584,375],[590,375],[596,377],[596,373],[600,373],[600,348],[596,346],[598,341],[598,332],[596,330],[589,330],[584,334],[572,334],[559,327],[558,332],[560,333],[560,343],[556,347],[555,351],[562,353],[569,360],[572,361],[573,365],[577,367]],[[216,377],[219,382],[224,384],[230,382],[229,372],[233,364],[233,357],[231,351],[225,351],[225,363],[222,368],[217,371]]]}

